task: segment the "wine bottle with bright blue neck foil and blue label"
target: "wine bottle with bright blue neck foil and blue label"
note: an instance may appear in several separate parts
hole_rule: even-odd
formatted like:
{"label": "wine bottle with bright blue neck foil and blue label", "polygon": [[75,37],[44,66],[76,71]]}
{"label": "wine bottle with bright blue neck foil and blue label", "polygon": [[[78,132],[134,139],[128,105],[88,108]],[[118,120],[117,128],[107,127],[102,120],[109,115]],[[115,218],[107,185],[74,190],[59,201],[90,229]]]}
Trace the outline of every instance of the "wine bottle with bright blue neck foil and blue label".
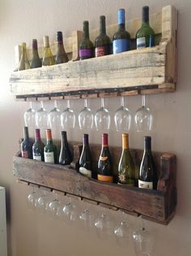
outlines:
{"label": "wine bottle with bright blue neck foil and blue label", "polygon": [[112,37],[112,53],[130,50],[130,34],[125,30],[125,10],[118,10],[118,31]]}

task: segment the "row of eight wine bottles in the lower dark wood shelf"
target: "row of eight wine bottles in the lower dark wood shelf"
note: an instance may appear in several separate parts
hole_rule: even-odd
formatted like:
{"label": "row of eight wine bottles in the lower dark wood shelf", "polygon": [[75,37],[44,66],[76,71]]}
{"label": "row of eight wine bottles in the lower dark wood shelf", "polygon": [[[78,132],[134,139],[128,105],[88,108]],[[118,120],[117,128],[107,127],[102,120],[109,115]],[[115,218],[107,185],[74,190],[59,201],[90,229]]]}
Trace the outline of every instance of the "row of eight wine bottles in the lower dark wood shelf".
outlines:
{"label": "row of eight wine bottles in the lower dark wood shelf", "polygon": [[[33,158],[45,163],[60,163],[69,165],[72,162],[72,154],[68,145],[66,131],[62,131],[62,147],[57,154],[57,147],[53,144],[50,129],[46,130],[47,144],[40,140],[40,129],[36,129],[36,141],[32,142],[28,136],[28,127],[24,127],[24,139],[21,143],[21,154],[23,158]],[[91,150],[88,141],[88,134],[83,134],[83,150],[79,158],[79,172],[84,176],[104,182],[114,182],[112,170],[112,158],[108,148],[108,134],[102,134],[102,148],[97,164],[97,170],[93,170]],[[134,160],[129,151],[129,134],[122,134],[122,153],[118,163],[118,184],[138,185],[142,189],[156,189],[157,171],[151,154],[151,137],[144,137],[144,153],[138,174],[135,176]]]}

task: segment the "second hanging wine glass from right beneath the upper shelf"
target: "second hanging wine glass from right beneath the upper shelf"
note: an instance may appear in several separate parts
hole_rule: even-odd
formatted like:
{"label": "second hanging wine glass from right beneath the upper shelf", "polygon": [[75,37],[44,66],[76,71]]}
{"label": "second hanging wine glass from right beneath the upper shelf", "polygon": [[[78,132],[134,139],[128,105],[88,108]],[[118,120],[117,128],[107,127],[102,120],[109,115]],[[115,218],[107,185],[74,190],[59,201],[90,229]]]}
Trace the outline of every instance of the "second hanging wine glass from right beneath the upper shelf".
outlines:
{"label": "second hanging wine glass from right beneath the upper shelf", "polygon": [[114,115],[114,121],[117,132],[129,131],[131,115],[129,109],[125,106],[124,97],[121,97],[121,106]]}

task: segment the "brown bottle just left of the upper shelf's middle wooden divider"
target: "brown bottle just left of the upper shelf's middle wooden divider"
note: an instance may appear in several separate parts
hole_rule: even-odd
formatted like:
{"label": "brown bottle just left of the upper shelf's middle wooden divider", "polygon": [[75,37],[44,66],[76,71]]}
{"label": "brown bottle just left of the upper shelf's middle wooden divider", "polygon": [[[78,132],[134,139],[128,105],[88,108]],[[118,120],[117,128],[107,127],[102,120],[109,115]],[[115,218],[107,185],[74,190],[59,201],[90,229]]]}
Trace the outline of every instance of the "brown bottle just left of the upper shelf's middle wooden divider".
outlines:
{"label": "brown bottle just left of the upper shelf's middle wooden divider", "polygon": [[62,32],[58,31],[57,32],[57,55],[56,55],[55,63],[56,64],[67,63],[68,60],[69,59],[63,45]]}

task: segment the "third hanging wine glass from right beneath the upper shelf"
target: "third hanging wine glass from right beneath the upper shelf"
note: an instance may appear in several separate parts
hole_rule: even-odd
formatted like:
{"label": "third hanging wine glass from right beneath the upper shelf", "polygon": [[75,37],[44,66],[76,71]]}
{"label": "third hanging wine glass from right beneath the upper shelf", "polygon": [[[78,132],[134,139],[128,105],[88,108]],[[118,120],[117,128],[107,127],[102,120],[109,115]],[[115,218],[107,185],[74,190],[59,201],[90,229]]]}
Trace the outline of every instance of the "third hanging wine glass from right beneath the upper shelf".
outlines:
{"label": "third hanging wine glass from right beneath the upper shelf", "polygon": [[96,111],[95,124],[97,130],[108,130],[110,128],[111,117],[107,108],[104,107],[104,98],[101,98],[101,107]]}

